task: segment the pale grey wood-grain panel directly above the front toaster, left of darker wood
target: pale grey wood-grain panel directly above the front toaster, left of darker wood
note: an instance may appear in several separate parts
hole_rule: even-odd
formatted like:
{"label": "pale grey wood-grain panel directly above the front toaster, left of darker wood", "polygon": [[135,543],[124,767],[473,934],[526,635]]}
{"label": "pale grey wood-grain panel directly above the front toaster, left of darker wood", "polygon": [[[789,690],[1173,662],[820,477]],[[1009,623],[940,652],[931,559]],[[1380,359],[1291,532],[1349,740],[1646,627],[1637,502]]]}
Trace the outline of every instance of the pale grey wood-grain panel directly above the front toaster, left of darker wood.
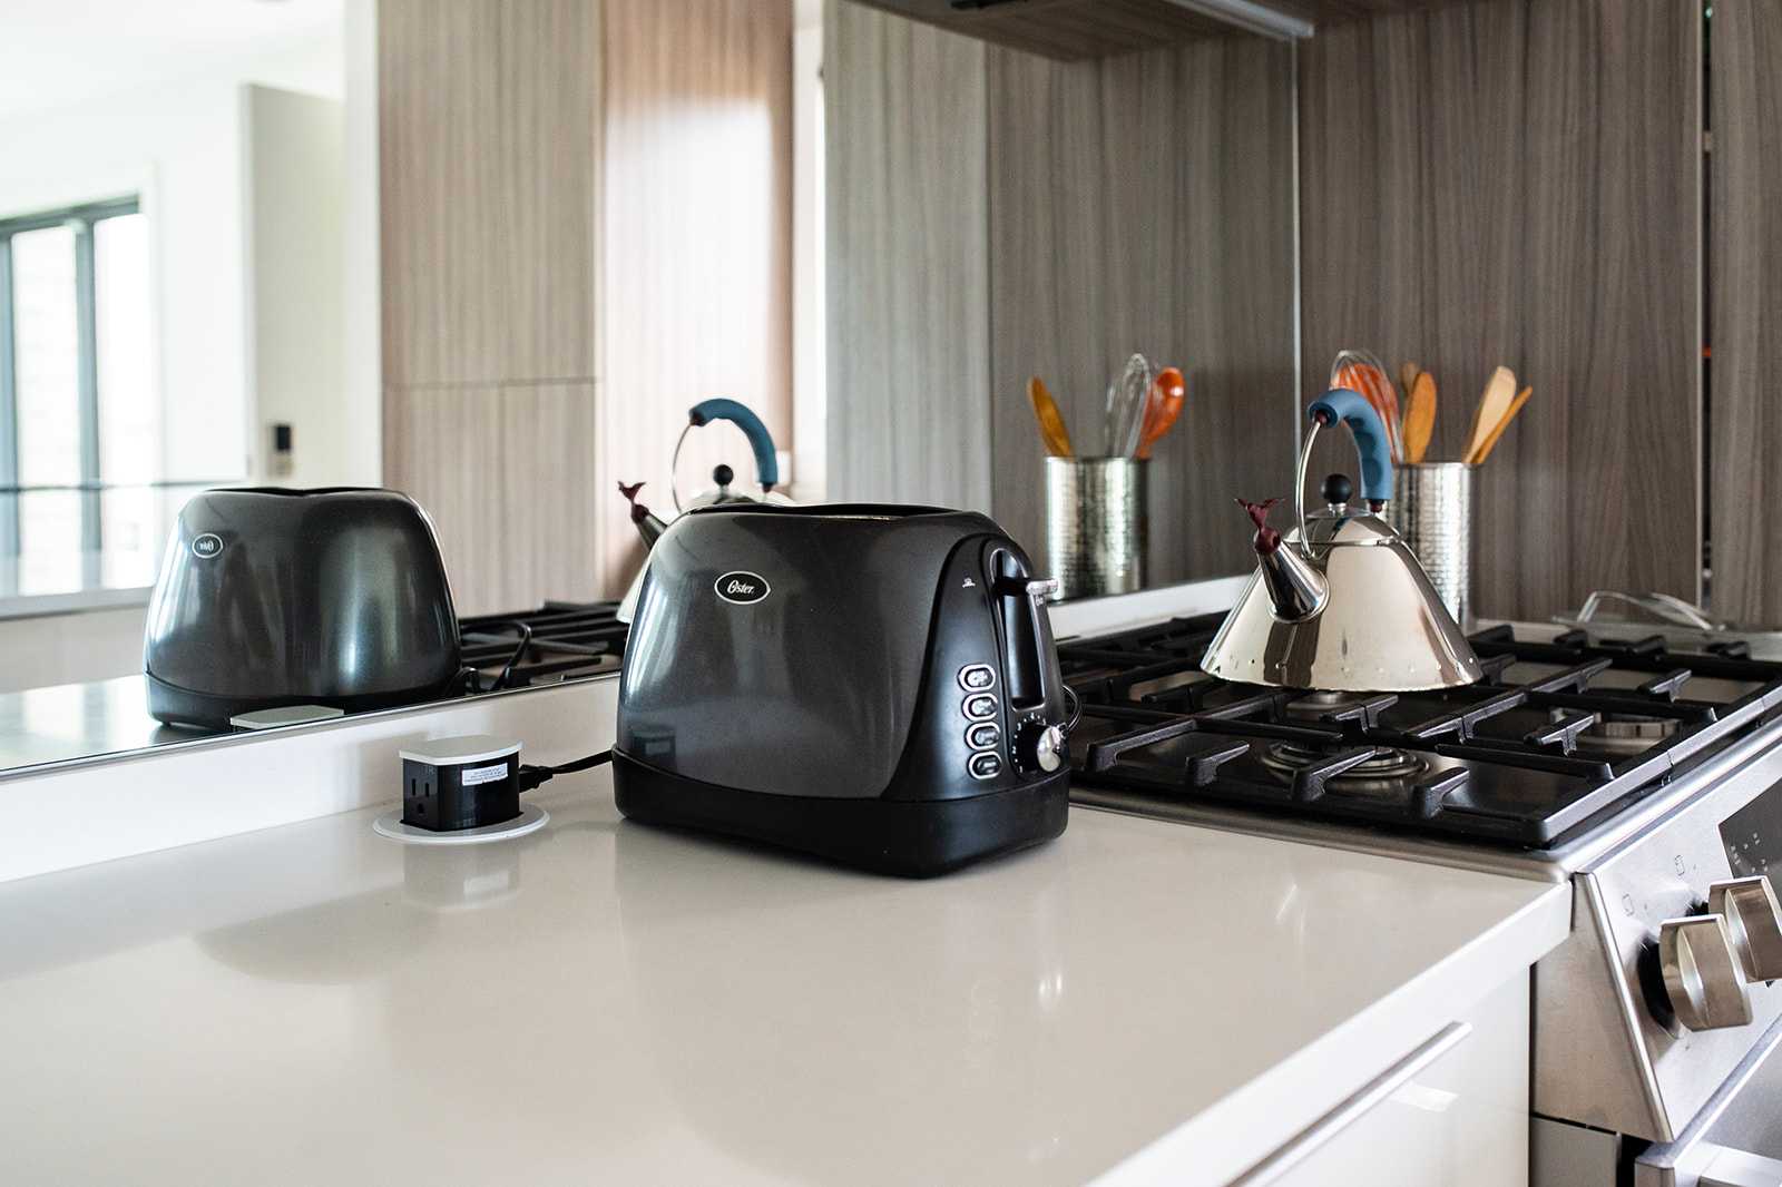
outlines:
{"label": "pale grey wood-grain panel directly above the front toaster, left of darker wood", "polygon": [[991,508],[985,48],[825,29],[829,497]]}

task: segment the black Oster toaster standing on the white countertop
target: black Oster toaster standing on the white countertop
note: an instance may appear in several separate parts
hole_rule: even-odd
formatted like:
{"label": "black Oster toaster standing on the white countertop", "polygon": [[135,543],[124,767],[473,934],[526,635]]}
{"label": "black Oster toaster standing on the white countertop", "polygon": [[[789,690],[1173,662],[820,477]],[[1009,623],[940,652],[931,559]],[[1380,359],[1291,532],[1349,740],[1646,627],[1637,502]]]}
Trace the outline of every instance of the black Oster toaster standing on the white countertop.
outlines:
{"label": "black Oster toaster standing on the white countertop", "polygon": [[618,809],[918,877],[1059,836],[1050,588],[969,512],[683,515],[625,647]]}

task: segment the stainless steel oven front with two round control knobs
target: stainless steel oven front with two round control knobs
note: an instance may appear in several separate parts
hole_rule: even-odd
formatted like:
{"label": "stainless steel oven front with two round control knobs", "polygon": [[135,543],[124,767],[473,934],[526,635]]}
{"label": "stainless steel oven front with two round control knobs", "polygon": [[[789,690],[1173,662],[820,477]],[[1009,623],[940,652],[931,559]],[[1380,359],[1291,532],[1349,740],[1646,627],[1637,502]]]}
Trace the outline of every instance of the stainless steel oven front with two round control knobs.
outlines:
{"label": "stainless steel oven front with two round control knobs", "polygon": [[1538,1187],[1782,1187],[1775,733],[1574,872],[1572,936],[1534,966]]}

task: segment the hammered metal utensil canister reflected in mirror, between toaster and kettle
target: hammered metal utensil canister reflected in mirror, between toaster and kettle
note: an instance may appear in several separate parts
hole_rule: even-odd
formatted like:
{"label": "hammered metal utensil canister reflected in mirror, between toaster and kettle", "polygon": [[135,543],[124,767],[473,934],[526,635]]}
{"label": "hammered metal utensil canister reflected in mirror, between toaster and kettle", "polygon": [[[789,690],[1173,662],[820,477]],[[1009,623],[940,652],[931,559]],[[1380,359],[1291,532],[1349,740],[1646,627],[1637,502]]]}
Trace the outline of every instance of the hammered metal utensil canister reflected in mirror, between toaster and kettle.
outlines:
{"label": "hammered metal utensil canister reflected in mirror, between toaster and kettle", "polygon": [[1046,458],[1046,565],[1053,601],[1132,594],[1149,551],[1146,467],[1137,458]]}

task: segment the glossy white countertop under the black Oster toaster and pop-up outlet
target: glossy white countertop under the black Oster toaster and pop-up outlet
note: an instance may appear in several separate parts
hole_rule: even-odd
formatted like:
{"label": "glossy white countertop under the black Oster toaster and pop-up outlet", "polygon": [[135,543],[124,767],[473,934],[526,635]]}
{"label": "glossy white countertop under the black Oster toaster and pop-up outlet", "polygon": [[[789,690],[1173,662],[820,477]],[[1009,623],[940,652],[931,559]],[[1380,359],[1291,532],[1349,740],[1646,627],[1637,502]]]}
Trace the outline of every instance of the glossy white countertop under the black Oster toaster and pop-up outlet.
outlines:
{"label": "glossy white countertop under the black Oster toaster and pop-up outlet", "polygon": [[625,823],[604,772],[536,800],[494,847],[362,809],[0,886],[0,1182],[1221,1182],[1570,911],[1087,809],[907,882]]}

